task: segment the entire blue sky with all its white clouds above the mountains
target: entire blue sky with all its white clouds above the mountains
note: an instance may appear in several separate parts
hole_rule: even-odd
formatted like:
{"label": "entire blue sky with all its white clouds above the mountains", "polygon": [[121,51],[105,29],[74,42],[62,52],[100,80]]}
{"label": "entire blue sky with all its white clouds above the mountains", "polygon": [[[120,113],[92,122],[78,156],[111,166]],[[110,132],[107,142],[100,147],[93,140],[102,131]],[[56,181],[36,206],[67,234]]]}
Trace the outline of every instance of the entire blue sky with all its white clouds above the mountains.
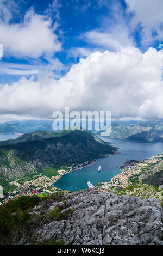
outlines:
{"label": "entire blue sky with all its white clouds above the mountains", "polygon": [[161,43],[162,0],[0,0],[0,121],[163,119]]}

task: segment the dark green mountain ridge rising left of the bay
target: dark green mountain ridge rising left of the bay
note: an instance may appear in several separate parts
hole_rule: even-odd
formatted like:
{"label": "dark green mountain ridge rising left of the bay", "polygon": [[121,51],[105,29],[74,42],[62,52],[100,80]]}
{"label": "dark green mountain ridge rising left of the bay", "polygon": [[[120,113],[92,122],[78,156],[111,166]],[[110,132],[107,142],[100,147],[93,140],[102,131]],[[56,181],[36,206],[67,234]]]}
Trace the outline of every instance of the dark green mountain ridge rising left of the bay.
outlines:
{"label": "dark green mountain ridge rising left of the bay", "polygon": [[[47,135],[51,135],[51,132]],[[42,131],[40,132],[42,138]],[[36,133],[38,138],[39,132]],[[35,137],[30,135],[30,138]],[[24,139],[24,136],[21,137]],[[27,135],[28,138],[28,135]],[[39,136],[40,138],[40,136]],[[117,148],[104,143],[88,131],[68,131],[55,137],[8,144],[0,147],[0,182],[25,177],[48,166],[83,163],[106,154],[116,153]]]}

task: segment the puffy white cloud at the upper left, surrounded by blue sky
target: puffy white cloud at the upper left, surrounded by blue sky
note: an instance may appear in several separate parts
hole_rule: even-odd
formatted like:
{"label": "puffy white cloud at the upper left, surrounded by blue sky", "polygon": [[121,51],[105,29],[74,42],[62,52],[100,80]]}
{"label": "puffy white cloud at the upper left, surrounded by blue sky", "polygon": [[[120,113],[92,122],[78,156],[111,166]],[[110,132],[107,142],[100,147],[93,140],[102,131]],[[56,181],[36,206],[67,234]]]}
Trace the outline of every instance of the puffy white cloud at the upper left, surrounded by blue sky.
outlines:
{"label": "puffy white cloud at the upper left, surrounded by blue sky", "polygon": [[22,23],[0,21],[0,42],[4,55],[38,58],[61,50],[61,43],[52,28],[52,21],[29,10]]}

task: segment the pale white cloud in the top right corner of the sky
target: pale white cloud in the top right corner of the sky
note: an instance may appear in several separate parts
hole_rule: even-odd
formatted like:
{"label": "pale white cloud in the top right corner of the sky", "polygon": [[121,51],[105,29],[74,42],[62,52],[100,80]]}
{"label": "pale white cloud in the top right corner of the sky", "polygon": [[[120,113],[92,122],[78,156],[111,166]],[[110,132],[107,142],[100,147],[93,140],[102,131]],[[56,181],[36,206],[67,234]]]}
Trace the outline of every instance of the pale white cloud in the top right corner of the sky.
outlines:
{"label": "pale white cloud in the top right corner of the sky", "polygon": [[149,44],[163,39],[163,1],[125,0],[127,12],[132,13],[131,27],[142,27],[142,43]]}

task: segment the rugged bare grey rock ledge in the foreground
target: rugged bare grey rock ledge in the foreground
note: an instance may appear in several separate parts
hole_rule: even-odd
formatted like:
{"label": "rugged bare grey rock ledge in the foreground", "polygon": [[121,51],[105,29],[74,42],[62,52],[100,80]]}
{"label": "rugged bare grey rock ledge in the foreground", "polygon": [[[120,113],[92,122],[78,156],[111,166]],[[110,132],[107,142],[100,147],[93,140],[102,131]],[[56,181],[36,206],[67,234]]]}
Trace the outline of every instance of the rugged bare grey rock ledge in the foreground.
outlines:
{"label": "rugged bare grey rock ledge in the foreground", "polygon": [[[101,193],[96,188],[65,195],[51,202],[48,211],[74,209],[67,219],[37,229],[40,239],[53,237],[71,245],[163,245],[163,209],[155,198],[140,199]],[[42,206],[35,206],[34,212]]]}

